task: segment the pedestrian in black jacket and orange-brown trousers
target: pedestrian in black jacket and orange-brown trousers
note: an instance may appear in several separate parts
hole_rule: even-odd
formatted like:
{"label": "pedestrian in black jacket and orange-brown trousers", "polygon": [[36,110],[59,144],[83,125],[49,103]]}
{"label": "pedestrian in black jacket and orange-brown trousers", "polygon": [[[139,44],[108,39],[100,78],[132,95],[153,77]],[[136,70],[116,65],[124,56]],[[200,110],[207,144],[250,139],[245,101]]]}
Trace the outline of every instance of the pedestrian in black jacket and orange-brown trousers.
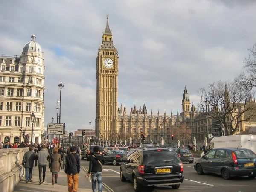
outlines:
{"label": "pedestrian in black jacket and orange-brown trousers", "polygon": [[[67,174],[68,192],[77,192],[78,175],[80,172],[80,158],[76,154],[76,147],[70,148],[70,154],[66,156],[65,173]],[[73,187],[74,183],[74,187]]]}

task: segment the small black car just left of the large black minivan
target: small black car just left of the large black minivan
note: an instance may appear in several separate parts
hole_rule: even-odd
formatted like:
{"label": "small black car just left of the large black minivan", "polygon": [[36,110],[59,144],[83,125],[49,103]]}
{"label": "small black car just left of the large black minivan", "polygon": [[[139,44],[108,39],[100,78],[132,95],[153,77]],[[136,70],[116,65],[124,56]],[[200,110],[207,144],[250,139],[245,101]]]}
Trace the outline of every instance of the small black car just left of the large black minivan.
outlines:
{"label": "small black car just left of the large black minivan", "polygon": [[124,150],[111,150],[104,154],[105,163],[113,163],[114,166],[123,162],[123,159],[127,155]]}

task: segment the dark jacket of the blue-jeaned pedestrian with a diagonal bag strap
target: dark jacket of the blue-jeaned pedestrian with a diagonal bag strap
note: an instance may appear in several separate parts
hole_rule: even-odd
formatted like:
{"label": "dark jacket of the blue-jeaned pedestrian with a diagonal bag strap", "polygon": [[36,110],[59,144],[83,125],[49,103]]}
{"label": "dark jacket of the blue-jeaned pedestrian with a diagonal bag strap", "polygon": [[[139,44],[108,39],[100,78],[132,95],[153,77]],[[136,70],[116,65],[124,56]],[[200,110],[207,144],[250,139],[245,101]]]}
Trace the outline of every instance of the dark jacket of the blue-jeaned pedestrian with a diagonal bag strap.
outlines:
{"label": "dark jacket of the blue-jeaned pedestrian with a diagonal bag strap", "polygon": [[[93,157],[95,156],[95,157]],[[99,163],[100,161],[100,163]],[[102,172],[102,162],[105,162],[104,157],[99,153],[94,153],[90,156],[90,164],[88,173],[99,173]]]}

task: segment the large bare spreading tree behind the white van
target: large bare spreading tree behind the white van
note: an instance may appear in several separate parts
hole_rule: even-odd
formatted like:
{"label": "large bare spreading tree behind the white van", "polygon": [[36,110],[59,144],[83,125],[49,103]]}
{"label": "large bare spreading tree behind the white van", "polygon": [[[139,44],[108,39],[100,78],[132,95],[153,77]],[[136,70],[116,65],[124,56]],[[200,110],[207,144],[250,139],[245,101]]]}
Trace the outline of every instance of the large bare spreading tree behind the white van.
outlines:
{"label": "large bare spreading tree behind the white van", "polygon": [[218,81],[198,91],[201,98],[199,106],[206,111],[205,99],[209,102],[207,115],[223,123],[227,135],[233,135],[239,123],[252,119],[255,114],[255,103],[250,103],[254,93],[248,87],[236,82]]}

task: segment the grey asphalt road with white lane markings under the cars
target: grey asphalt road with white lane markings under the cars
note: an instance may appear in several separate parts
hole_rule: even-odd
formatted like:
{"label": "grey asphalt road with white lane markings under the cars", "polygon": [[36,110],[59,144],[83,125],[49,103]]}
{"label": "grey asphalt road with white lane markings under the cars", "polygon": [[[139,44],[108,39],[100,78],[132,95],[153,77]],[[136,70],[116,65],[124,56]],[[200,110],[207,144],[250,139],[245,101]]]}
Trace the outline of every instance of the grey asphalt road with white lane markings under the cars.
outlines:
{"label": "grey asphalt road with white lane markings under the cars", "polygon": [[[86,170],[89,161],[81,160],[81,166]],[[224,180],[220,175],[198,175],[194,170],[193,163],[183,163],[185,180],[181,183],[178,191],[182,192],[256,192],[256,178],[233,177]],[[120,166],[110,164],[102,165],[103,190],[107,192],[134,192],[133,183],[120,180]],[[144,188],[144,192],[168,192],[175,191],[171,186]]]}

